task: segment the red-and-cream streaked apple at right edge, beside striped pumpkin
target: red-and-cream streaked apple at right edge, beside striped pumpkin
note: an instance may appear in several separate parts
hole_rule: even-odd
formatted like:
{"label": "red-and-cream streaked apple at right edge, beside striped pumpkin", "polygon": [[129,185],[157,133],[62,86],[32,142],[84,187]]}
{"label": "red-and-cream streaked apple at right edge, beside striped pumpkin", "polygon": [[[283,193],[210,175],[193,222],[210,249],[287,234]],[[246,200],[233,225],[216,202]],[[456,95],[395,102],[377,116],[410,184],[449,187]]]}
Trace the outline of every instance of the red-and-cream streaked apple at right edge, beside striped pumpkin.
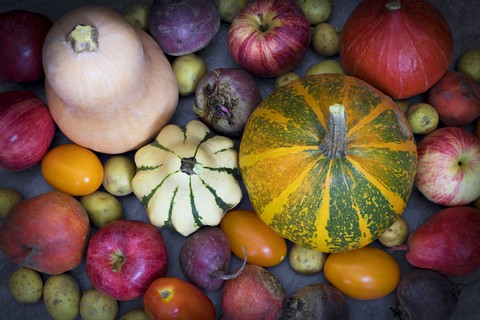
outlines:
{"label": "red-and-cream streaked apple at right edge, beside striped pumpkin", "polygon": [[480,141],[459,127],[443,127],[417,145],[415,183],[430,201],[444,206],[480,197]]}

